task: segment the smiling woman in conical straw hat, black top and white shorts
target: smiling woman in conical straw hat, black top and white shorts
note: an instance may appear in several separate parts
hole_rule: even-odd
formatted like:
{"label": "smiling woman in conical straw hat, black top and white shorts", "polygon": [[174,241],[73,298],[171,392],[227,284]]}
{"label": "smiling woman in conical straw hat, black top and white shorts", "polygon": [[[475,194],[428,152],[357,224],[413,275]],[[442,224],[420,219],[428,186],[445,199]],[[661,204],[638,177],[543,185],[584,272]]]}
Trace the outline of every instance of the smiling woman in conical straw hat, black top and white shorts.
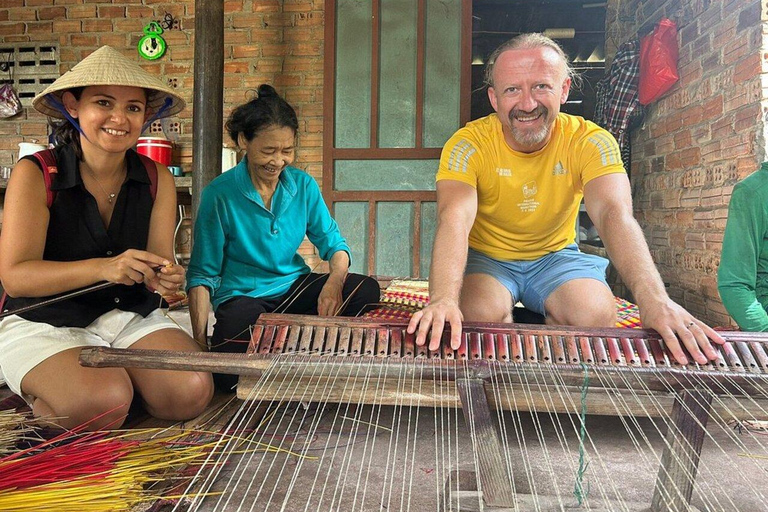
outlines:
{"label": "smiling woman in conical straw hat, black top and white shorts", "polygon": [[78,364],[86,346],[201,350],[160,309],[161,297],[184,280],[173,263],[173,177],[132,149],[144,126],[179,112],[184,101],[104,46],[33,106],[62,121],[54,129],[53,165],[24,157],[8,183],[0,235],[4,310],[99,282],[114,286],[5,317],[0,371],[37,416],[66,428],[118,428],[134,396],[156,417],[198,415],[213,392],[208,373]]}

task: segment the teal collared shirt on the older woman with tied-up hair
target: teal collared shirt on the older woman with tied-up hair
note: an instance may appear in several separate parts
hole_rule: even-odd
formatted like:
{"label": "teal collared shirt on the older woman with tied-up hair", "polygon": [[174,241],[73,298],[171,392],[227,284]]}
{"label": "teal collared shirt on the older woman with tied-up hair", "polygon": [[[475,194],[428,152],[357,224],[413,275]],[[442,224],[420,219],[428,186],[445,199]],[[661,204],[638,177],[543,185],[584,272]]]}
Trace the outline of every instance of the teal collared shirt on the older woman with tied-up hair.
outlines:
{"label": "teal collared shirt on the older woman with tied-up hair", "polygon": [[351,252],[311,176],[286,167],[267,209],[245,158],[205,187],[194,232],[187,289],[208,288],[214,310],[234,297],[288,291],[310,272],[296,252],[304,235],[324,260]]}

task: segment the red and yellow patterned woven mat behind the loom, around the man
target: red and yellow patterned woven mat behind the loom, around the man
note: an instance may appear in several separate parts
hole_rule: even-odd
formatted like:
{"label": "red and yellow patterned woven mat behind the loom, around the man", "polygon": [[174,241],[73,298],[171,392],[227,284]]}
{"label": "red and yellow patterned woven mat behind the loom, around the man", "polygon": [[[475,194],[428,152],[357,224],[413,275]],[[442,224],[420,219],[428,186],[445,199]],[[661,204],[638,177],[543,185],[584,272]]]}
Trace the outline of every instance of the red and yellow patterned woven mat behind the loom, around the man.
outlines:
{"label": "red and yellow patterned woven mat behind the loom, around the man", "polygon": [[[407,320],[429,304],[429,282],[418,279],[395,279],[381,293],[382,306],[369,311],[366,318]],[[637,305],[616,297],[616,327],[642,328]]]}

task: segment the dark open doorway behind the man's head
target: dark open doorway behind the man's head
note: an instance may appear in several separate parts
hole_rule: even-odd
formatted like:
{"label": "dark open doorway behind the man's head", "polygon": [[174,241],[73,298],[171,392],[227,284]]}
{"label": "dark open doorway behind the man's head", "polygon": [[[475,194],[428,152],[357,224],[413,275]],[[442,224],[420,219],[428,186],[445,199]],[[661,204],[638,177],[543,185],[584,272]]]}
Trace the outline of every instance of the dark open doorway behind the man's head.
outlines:
{"label": "dark open doorway behind the man's head", "polygon": [[474,0],[472,5],[472,119],[493,112],[483,70],[493,50],[524,32],[545,32],[568,54],[583,83],[561,109],[592,119],[595,84],[605,72],[605,7],[598,0]]}

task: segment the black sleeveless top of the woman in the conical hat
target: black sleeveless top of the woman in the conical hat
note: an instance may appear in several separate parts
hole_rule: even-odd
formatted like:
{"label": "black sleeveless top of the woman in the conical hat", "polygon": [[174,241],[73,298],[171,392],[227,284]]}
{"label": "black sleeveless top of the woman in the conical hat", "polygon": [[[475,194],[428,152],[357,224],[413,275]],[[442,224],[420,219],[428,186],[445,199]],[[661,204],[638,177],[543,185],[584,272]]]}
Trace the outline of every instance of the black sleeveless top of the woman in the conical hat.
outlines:
{"label": "black sleeveless top of the woman in the conical hat", "polygon": [[[50,207],[43,259],[77,261],[109,258],[127,249],[145,250],[154,199],[150,192],[147,170],[138,154],[133,150],[126,153],[127,179],[115,198],[115,208],[107,229],[99,215],[96,199],[83,185],[74,148],[59,147],[55,153],[58,173],[51,174],[51,190],[55,191],[56,197]],[[25,158],[39,166],[37,159],[33,156]],[[53,297],[55,295],[8,297],[5,310],[13,311]],[[133,286],[116,284],[104,290],[37,308],[19,316],[33,322],[45,322],[54,327],[85,327],[113,309],[147,316],[159,306],[160,296],[147,290],[143,284]]]}

